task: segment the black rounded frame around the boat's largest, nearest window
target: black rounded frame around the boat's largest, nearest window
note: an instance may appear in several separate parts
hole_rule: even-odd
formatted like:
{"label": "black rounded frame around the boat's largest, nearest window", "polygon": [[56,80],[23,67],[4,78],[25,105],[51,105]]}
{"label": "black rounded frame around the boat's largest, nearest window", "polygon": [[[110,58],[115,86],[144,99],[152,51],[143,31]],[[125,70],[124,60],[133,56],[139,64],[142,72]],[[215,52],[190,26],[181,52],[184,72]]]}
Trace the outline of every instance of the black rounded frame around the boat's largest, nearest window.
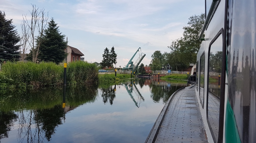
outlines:
{"label": "black rounded frame around the boat's largest, nearest window", "polygon": [[[218,140],[216,141],[210,121],[208,119],[208,90],[209,90],[209,68],[210,68],[210,51],[212,44],[219,38],[219,36],[222,35],[222,80],[221,80],[221,88],[220,88],[220,108],[219,108],[219,134],[218,134]],[[224,126],[224,105],[225,105],[225,79],[226,79],[226,43],[224,38],[224,29],[221,28],[217,35],[212,39],[212,41],[209,44],[208,48],[208,61],[207,61],[207,92],[206,92],[206,120],[213,138],[213,141],[215,143],[222,142],[223,141],[223,126]]]}

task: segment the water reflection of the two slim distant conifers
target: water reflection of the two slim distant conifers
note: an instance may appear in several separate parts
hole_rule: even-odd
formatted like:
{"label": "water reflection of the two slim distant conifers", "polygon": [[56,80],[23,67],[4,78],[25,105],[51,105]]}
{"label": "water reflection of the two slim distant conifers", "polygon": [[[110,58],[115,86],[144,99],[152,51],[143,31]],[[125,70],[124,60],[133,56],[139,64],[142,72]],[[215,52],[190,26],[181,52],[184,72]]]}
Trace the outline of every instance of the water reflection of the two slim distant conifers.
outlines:
{"label": "water reflection of the two slim distant conifers", "polygon": [[112,86],[108,88],[102,88],[101,97],[104,104],[109,101],[110,105],[112,105],[115,98],[115,88],[112,88]]}

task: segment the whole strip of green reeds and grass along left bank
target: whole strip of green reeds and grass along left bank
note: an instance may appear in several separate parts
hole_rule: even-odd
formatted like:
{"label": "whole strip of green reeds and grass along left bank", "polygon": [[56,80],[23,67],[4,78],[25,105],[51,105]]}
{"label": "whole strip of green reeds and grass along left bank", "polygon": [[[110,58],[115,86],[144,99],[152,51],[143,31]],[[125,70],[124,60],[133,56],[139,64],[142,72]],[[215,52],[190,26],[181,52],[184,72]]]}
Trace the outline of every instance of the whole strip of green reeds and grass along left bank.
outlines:
{"label": "whole strip of green reeds and grass along left bank", "polygon": [[[64,66],[53,62],[6,62],[1,66],[0,90],[37,88],[63,85]],[[67,65],[67,85],[90,83],[112,84],[129,79],[130,74],[98,74],[93,63],[77,61]],[[134,76],[133,76],[134,77]]]}

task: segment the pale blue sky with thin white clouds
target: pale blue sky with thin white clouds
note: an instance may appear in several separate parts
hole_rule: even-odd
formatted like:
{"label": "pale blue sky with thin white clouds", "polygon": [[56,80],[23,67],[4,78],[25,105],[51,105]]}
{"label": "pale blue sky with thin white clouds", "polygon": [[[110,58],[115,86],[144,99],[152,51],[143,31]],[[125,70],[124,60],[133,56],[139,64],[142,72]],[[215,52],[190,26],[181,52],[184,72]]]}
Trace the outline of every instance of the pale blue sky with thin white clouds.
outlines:
{"label": "pale blue sky with thin white clouds", "polygon": [[204,0],[0,0],[0,10],[13,19],[19,34],[31,4],[49,11],[49,20],[54,18],[68,45],[79,49],[86,61],[100,63],[104,49],[114,46],[117,67],[125,67],[139,47],[132,61],[142,52],[144,65],[155,51],[170,52],[167,46],[182,37],[189,17],[205,12]]}

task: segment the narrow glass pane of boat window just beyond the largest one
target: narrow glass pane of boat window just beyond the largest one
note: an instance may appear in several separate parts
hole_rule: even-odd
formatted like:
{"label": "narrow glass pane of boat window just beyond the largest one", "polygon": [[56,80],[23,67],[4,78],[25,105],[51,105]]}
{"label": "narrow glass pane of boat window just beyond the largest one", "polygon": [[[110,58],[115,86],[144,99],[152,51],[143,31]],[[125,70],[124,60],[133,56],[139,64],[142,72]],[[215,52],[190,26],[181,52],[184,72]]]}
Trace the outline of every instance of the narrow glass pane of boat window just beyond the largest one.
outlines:
{"label": "narrow glass pane of boat window just beyond the largest one", "polygon": [[199,98],[203,107],[204,100],[204,83],[205,83],[205,53],[202,54],[200,58],[200,76],[199,76]]}

